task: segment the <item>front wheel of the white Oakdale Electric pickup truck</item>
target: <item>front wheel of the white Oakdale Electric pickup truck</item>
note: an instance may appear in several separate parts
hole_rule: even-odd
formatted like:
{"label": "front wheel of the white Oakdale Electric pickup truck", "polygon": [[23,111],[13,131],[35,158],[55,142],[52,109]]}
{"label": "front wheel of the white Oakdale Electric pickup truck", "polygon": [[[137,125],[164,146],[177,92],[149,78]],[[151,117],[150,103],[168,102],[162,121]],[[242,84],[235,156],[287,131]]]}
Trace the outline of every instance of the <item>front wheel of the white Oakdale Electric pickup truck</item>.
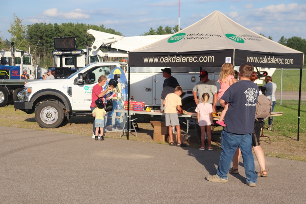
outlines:
{"label": "front wheel of the white Oakdale Electric pickup truck", "polygon": [[43,102],[35,110],[35,120],[42,128],[57,128],[64,120],[63,108],[54,101]]}

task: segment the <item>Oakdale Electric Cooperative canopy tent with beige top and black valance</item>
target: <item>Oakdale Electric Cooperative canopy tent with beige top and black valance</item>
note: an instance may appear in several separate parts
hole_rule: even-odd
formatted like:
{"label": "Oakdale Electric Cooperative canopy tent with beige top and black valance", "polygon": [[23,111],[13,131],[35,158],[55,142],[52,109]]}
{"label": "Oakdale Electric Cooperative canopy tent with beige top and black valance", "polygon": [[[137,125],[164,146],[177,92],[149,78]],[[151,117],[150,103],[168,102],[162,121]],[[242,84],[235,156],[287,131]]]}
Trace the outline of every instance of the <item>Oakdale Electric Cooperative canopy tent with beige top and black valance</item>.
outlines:
{"label": "Oakdale Electric Cooperative canopy tent with beige top and black valance", "polygon": [[128,55],[129,73],[132,67],[205,67],[225,62],[234,66],[249,62],[255,67],[300,68],[302,72],[304,62],[304,53],[252,32],[219,11]]}

